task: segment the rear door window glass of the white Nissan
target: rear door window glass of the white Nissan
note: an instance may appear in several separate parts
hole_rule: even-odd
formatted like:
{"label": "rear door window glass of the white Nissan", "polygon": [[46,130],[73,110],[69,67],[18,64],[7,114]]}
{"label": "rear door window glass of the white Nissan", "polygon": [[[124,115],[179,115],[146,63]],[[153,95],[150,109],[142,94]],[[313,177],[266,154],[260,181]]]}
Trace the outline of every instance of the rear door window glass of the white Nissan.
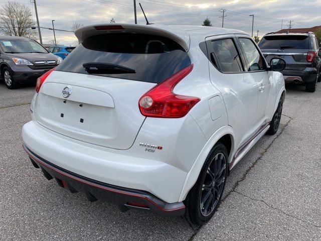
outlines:
{"label": "rear door window glass of the white Nissan", "polygon": [[[232,39],[211,42],[220,70],[224,73],[243,71],[239,54]],[[216,63],[214,63],[216,65]]]}

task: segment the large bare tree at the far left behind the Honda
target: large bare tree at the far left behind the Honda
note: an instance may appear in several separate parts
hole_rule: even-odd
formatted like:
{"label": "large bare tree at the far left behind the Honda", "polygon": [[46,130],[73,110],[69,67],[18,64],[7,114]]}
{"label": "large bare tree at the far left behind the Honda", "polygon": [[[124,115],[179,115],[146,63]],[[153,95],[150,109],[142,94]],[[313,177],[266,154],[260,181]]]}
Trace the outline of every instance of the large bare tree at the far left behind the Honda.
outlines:
{"label": "large bare tree at the far left behind the Honda", "polygon": [[8,2],[0,9],[0,31],[5,35],[38,39],[31,27],[35,26],[29,6]]}

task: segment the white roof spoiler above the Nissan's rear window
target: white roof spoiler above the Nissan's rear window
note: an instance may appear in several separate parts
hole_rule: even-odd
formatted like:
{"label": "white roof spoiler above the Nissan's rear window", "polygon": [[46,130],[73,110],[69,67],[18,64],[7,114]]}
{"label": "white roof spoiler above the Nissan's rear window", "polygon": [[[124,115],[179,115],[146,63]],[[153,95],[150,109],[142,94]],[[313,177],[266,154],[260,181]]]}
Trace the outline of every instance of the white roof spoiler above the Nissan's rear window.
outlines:
{"label": "white roof spoiler above the Nissan's rear window", "polygon": [[173,29],[168,31],[169,26],[165,25],[137,25],[137,24],[98,24],[89,25],[76,30],[75,35],[78,38],[79,43],[82,43],[85,39],[110,33],[136,33],[136,34],[150,34],[161,37],[166,37],[174,40],[180,44],[185,51],[189,50],[190,36],[184,30]]}

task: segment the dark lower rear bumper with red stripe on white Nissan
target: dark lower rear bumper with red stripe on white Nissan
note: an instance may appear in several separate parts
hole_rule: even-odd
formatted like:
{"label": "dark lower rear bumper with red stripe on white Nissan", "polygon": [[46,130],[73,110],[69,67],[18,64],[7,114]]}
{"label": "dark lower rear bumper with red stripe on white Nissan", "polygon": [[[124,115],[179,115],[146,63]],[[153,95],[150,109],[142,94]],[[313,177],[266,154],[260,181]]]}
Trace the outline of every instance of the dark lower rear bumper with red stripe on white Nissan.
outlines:
{"label": "dark lower rear bumper with red stripe on white Nissan", "polygon": [[42,173],[48,180],[54,178],[61,187],[69,189],[72,193],[85,193],[89,201],[98,199],[108,201],[116,204],[121,211],[139,208],[163,216],[180,216],[185,213],[183,202],[166,203],[144,191],[116,187],[80,176],[44,160],[29,150],[25,144],[23,147],[34,167],[41,168]]}

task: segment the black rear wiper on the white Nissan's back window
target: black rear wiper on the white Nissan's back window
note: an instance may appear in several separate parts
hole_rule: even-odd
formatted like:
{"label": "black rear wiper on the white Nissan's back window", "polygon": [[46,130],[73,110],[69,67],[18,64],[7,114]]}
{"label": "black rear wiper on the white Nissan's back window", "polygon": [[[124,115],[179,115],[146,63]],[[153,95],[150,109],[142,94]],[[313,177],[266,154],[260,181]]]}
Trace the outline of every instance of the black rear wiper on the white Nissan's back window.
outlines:
{"label": "black rear wiper on the white Nissan's back window", "polygon": [[111,63],[84,63],[82,65],[88,73],[96,74],[120,74],[120,73],[136,73],[134,69]]}

